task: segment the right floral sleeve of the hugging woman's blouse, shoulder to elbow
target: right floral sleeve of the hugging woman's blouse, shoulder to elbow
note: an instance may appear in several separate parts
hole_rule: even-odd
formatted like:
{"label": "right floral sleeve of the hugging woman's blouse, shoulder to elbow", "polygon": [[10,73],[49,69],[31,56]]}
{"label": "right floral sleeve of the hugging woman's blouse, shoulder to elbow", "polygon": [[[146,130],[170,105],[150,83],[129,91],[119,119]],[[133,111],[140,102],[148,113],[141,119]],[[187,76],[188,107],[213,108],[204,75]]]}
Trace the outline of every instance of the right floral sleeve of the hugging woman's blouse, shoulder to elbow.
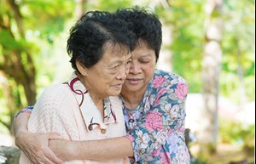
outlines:
{"label": "right floral sleeve of the hugging woman's blouse, shoulder to elbow", "polygon": [[148,157],[166,144],[167,137],[172,133],[183,133],[187,94],[186,82],[160,88],[155,93],[154,105],[126,136],[131,140],[135,161]]}

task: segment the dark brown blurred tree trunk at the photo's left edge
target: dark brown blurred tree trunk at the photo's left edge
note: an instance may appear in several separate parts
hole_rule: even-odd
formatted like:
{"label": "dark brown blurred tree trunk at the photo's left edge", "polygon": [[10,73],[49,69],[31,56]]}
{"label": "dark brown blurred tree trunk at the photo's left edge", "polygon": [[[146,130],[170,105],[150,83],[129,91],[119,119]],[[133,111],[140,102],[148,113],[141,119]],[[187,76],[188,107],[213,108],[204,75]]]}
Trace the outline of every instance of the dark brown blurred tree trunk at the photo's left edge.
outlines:
{"label": "dark brown blurred tree trunk at the photo's left edge", "polygon": [[[2,1],[0,14],[0,44],[2,60],[0,70],[3,75],[13,81],[15,85],[4,85],[8,99],[11,121],[14,119],[15,109],[19,109],[20,95],[17,86],[22,85],[28,104],[36,101],[35,67],[32,60],[32,45],[26,42],[25,30],[22,22],[20,7],[14,0]],[[16,96],[14,95],[16,90]],[[18,102],[15,101],[15,98]],[[11,124],[5,124],[9,129]]]}

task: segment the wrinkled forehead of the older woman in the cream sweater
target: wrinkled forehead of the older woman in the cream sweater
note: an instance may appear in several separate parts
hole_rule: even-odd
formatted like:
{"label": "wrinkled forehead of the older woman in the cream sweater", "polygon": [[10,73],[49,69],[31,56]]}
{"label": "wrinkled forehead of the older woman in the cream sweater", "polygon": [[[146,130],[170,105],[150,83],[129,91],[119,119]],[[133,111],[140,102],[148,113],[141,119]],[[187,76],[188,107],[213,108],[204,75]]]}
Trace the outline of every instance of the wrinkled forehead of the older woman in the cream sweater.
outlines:
{"label": "wrinkled forehead of the older woman in the cream sweater", "polygon": [[103,52],[110,52],[111,54],[119,54],[119,56],[130,55],[130,47],[120,42],[105,42],[103,45]]}

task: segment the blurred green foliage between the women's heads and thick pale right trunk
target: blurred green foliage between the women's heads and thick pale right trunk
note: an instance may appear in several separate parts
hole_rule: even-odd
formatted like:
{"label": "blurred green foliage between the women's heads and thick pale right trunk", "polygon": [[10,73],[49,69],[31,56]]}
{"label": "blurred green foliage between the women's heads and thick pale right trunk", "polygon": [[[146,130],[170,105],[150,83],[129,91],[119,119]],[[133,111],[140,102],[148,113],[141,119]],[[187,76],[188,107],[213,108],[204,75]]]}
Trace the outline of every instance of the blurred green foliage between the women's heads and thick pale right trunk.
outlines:
{"label": "blurred green foliage between the women's heads and thick pale right trunk", "polygon": [[[172,1],[170,8],[157,8],[156,13],[172,25],[172,68],[188,79],[189,92],[201,91],[201,59],[204,40],[204,1]],[[164,34],[165,35],[165,34]]]}

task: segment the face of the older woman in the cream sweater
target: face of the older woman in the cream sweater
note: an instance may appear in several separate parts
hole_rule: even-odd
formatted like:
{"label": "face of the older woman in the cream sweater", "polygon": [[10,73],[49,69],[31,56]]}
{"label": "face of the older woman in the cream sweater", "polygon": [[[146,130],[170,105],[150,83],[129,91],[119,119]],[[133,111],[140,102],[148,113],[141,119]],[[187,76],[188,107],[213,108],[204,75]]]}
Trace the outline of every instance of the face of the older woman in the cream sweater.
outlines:
{"label": "face of the older woman in the cream sweater", "polygon": [[102,99],[118,95],[121,92],[125,77],[131,65],[131,54],[128,48],[113,45],[107,42],[104,45],[104,54],[96,65],[85,68],[82,82],[91,96]]}

